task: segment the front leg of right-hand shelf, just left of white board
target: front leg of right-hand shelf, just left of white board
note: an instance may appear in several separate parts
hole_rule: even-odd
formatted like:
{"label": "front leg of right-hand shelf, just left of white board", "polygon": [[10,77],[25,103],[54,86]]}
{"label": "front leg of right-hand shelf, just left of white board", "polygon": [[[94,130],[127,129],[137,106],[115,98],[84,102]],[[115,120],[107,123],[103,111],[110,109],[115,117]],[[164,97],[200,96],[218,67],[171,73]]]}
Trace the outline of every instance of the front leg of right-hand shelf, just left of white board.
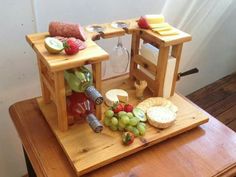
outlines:
{"label": "front leg of right-hand shelf, just left of white board", "polygon": [[154,93],[154,96],[163,96],[163,88],[164,88],[169,49],[170,47],[159,48],[157,74],[155,77],[156,91]]}

